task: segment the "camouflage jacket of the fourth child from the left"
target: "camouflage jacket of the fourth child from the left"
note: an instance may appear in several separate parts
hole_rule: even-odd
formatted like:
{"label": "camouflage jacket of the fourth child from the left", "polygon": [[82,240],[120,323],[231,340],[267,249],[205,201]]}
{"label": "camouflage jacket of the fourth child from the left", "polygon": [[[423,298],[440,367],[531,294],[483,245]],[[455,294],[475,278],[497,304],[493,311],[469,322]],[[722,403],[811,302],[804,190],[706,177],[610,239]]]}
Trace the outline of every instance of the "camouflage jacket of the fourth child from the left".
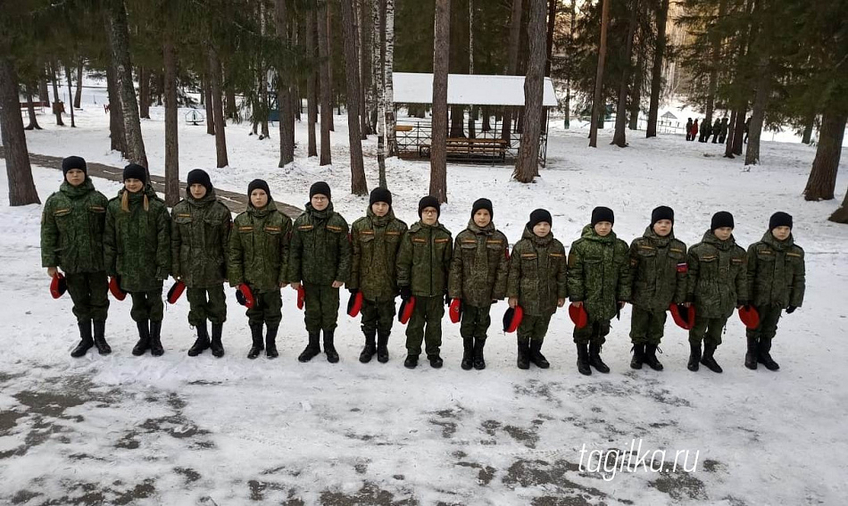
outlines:
{"label": "camouflage jacket of the fourth child from the left", "polygon": [[287,283],[288,248],[292,237],[292,220],[277,211],[269,198],[262,209],[247,207],[233,222],[229,234],[230,286],[247,283],[257,292],[279,290]]}

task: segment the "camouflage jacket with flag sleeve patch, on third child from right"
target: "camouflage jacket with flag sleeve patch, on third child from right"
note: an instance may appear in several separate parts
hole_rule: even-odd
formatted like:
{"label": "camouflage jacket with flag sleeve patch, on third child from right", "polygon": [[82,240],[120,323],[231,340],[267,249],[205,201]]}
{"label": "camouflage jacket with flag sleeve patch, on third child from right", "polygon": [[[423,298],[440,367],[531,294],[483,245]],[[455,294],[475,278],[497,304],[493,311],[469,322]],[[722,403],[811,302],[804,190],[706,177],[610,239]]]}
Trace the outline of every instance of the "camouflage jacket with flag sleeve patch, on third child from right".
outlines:
{"label": "camouflage jacket with flag sleeve patch, on third child from right", "polygon": [[671,303],[686,302],[686,245],[657,236],[651,227],[630,245],[632,303],[639,309],[664,312]]}

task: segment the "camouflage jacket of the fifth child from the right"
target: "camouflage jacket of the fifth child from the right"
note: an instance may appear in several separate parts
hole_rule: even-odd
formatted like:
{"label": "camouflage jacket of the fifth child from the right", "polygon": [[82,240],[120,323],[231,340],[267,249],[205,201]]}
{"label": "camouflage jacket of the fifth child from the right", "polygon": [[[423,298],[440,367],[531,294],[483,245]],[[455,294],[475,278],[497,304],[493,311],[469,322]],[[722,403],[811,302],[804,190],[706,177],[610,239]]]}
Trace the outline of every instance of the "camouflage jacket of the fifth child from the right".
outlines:
{"label": "camouflage jacket of the fifth child from the right", "polygon": [[556,312],[557,299],[569,296],[565,246],[553,237],[536,236],[524,228],[512,247],[506,295],[519,300],[526,314],[546,316]]}

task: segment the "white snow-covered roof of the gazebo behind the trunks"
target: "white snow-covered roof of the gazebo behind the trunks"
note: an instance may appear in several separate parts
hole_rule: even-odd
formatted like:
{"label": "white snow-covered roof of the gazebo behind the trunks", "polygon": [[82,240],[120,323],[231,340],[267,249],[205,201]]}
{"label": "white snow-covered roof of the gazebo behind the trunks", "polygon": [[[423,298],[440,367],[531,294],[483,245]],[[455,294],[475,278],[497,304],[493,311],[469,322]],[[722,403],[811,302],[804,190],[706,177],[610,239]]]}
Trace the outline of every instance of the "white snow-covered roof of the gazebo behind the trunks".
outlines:
{"label": "white snow-covered roof of the gazebo behind the trunks", "polygon": [[[431,104],[433,74],[395,72],[396,104]],[[556,107],[551,78],[545,78],[542,105]],[[449,74],[447,103],[457,105],[524,105],[524,76]]]}

